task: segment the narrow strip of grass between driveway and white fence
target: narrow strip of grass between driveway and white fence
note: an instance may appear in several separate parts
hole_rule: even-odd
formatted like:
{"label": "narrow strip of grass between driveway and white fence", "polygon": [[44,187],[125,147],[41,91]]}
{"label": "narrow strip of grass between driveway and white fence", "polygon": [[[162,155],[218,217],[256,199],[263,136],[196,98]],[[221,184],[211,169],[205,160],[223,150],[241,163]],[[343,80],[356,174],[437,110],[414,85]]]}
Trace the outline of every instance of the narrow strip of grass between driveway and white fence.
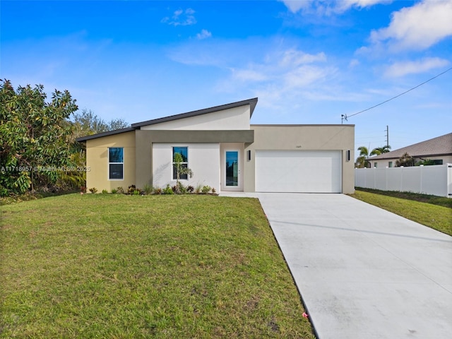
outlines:
{"label": "narrow strip of grass between driveway and white fence", "polygon": [[[350,194],[350,196],[419,222],[422,225],[432,227],[434,230],[452,235],[451,208],[422,201],[422,199],[425,199],[422,195],[408,194],[410,198],[407,198],[407,194],[400,194],[400,192],[394,192],[394,196],[391,196],[391,192],[379,194],[381,191],[373,191],[371,193],[368,190],[357,189],[355,194]],[[434,201],[435,198],[437,198],[437,201],[442,200],[441,197],[429,198],[428,200]]]}

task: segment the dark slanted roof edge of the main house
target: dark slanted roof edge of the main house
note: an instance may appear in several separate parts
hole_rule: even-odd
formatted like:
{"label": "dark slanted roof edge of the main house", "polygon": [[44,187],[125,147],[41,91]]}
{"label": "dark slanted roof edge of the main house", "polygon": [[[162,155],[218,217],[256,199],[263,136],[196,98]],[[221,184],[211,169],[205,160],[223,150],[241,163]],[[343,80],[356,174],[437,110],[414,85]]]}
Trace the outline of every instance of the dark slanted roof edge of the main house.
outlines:
{"label": "dark slanted roof edge of the main house", "polygon": [[240,107],[240,106],[244,106],[244,105],[250,105],[249,118],[251,119],[251,116],[253,115],[253,112],[254,112],[254,108],[256,108],[256,105],[257,105],[257,100],[258,100],[258,98],[254,97],[253,99],[231,102],[230,104],[220,105],[220,106],[215,106],[215,107],[210,107],[210,108],[205,108],[205,109],[198,109],[198,110],[192,111],[192,112],[186,112],[186,113],[182,113],[182,114],[172,115],[170,117],[163,117],[163,118],[158,118],[158,119],[153,119],[153,120],[148,120],[148,121],[137,122],[136,124],[131,124],[131,127],[127,127],[126,129],[116,129],[114,131],[97,133],[97,134],[93,134],[91,136],[82,136],[81,138],[76,138],[76,141],[83,142],[83,141],[87,141],[90,139],[102,138],[103,136],[112,136],[114,134],[125,133],[125,132],[134,131],[136,129],[140,129],[141,126],[148,126],[148,125],[153,125],[153,124],[160,124],[160,123],[166,122],[166,121],[174,121],[177,119],[196,117],[198,115],[223,111],[225,109],[231,109],[231,108]]}

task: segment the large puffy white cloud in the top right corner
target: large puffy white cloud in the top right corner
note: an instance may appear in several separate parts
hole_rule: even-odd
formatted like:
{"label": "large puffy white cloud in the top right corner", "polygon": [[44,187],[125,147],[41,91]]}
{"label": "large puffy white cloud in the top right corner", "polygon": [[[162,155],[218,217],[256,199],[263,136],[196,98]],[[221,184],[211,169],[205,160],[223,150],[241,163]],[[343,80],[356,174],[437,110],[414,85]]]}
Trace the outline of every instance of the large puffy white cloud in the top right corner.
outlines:
{"label": "large puffy white cloud in the top right corner", "polygon": [[452,0],[422,1],[394,12],[387,28],[371,32],[371,41],[393,49],[427,49],[451,35]]}

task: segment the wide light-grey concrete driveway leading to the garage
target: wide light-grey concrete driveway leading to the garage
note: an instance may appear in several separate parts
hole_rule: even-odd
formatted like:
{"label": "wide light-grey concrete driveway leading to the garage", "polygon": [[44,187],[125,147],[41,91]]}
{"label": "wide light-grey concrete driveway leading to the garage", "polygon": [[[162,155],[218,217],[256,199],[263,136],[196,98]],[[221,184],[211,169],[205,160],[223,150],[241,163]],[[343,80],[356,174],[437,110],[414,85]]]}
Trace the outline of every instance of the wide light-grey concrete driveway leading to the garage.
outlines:
{"label": "wide light-grey concrete driveway leading to the garage", "polygon": [[452,237],[343,194],[254,196],[320,339],[452,338]]}

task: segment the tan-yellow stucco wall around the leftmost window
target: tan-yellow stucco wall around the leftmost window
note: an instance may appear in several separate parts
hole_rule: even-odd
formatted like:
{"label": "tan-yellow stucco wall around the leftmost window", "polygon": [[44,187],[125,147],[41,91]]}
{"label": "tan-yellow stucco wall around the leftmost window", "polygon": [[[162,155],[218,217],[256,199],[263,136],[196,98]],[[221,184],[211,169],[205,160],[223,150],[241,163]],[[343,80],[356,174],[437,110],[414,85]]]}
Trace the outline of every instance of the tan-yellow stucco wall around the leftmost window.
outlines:
{"label": "tan-yellow stucco wall around the leftmost window", "polygon": [[[108,179],[108,148],[124,148],[124,179]],[[118,186],[127,189],[135,184],[135,132],[115,134],[86,141],[86,172],[87,189],[95,187],[97,192],[103,189],[111,192]],[[88,191],[89,192],[89,191]]]}

